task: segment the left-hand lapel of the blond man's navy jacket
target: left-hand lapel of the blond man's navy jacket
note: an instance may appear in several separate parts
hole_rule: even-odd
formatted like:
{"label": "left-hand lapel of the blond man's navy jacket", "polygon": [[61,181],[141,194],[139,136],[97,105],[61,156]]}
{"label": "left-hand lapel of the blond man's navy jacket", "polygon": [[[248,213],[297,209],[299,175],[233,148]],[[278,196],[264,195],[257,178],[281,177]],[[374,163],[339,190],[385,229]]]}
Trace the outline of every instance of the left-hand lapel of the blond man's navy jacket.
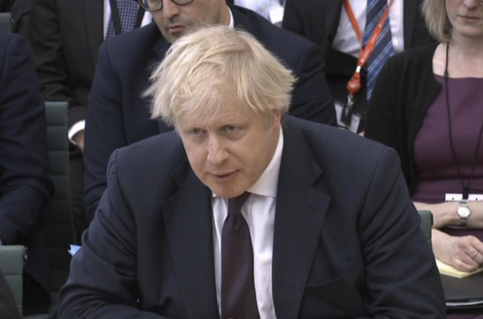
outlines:
{"label": "left-hand lapel of the blond man's navy jacket", "polygon": [[163,202],[174,269],[189,318],[217,318],[211,191],[186,157],[173,174],[179,191]]}

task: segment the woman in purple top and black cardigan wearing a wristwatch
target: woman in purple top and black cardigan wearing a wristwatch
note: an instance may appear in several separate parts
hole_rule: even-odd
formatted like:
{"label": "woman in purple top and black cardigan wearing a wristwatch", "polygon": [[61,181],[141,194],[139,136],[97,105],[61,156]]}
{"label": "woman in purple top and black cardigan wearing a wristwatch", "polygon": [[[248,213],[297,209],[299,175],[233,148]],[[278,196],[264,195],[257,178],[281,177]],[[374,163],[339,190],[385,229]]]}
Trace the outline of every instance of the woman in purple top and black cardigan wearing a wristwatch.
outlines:
{"label": "woman in purple top and black cardigan wearing a wristwatch", "polygon": [[[483,265],[483,24],[471,17],[483,2],[425,0],[423,12],[440,43],[388,60],[366,136],[398,152],[416,207],[434,215],[435,256],[472,271]],[[452,193],[460,200],[446,202]]]}

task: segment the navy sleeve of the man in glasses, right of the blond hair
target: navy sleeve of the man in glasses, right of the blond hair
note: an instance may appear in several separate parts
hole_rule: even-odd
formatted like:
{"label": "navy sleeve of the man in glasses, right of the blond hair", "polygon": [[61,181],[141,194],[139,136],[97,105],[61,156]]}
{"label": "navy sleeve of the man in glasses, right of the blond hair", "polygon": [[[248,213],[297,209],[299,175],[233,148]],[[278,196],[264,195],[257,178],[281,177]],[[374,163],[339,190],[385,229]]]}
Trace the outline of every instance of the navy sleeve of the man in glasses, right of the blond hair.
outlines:
{"label": "navy sleeve of the man in glasses, right of the blond hair", "polygon": [[336,125],[334,102],[326,81],[325,64],[320,48],[310,44],[300,57],[290,115],[309,121]]}

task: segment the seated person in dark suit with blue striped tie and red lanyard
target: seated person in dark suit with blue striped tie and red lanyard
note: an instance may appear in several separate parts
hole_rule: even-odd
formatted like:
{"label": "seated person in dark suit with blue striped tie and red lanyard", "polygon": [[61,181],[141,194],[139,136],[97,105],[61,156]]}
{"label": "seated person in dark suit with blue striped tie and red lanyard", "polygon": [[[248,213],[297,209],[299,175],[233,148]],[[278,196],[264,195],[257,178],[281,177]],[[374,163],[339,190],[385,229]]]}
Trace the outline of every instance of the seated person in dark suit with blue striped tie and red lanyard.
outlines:
{"label": "seated person in dark suit with blue striped tie and red lanyard", "polygon": [[[377,74],[393,53],[434,42],[421,16],[423,0],[286,0],[282,28],[302,35],[324,50],[326,78],[336,101],[338,124],[361,132],[364,129],[367,101]],[[389,8],[387,8],[389,5]],[[347,84],[358,66],[362,48],[367,45],[385,10],[388,17],[381,36],[360,71],[360,89],[353,95],[351,125],[341,118],[347,103]],[[355,20],[351,22],[349,12]],[[359,40],[359,29],[361,39]],[[361,43],[362,42],[362,43]],[[339,113],[340,112],[340,113]],[[350,117],[346,118],[346,121]],[[358,126],[356,126],[359,124]]]}

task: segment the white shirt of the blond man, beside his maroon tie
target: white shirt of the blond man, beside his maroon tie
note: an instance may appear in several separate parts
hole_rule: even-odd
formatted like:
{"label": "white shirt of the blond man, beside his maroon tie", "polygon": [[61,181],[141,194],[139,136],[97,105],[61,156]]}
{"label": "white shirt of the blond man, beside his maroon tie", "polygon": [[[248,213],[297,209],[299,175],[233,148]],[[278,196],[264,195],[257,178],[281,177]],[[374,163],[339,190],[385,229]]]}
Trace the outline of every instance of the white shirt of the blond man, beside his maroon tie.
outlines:
{"label": "white shirt of the blond man, beside his maroon tie", "polygon": [[[275,204],[277,200],[278,174],[282,159],[283,133],[280,128],[275,153],[260,178],[247,192],[247,199],[241,214],[247,221],[253,246],[253,275],[260,319],[275,316],[272,294],[272,254],[273,230],[275,223]],[[218,311],[221,315],[221,231],[228,215],[228,200],[213,194],[213,253],[215,262],[215,284]]]}

